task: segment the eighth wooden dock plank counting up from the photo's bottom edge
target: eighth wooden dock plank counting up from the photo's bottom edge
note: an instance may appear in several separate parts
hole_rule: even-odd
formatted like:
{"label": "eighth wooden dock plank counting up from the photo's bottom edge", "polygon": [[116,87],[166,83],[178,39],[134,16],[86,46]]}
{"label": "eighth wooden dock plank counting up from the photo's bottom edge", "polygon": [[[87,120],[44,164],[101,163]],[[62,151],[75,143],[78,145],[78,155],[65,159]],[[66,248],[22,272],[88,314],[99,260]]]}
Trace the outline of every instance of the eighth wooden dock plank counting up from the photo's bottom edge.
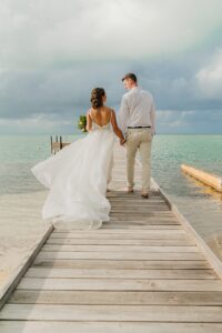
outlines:
{"label": "eighth wooden dock plank counting up from the photo's bottom edge", "polygon": [[149,245],[134,245],[133,249],[131,245],[71,245],[71,244],[64,244],[64,245],[61,245],[61,244],[46,244],[42,246],[42,251],[51,251],[51,252],[87,252],[87,251],[95,251],[95,252],[99,252],[99,251],[102,251],[102,252],[128,252],[128,251],[132,251],[133,252],[199,252],[198,248],[194,245],[194,246],[169,246],[169,245],[165,245],[165,246],[162,246],[162,245],[152,245],[152,246],[149,246]]}

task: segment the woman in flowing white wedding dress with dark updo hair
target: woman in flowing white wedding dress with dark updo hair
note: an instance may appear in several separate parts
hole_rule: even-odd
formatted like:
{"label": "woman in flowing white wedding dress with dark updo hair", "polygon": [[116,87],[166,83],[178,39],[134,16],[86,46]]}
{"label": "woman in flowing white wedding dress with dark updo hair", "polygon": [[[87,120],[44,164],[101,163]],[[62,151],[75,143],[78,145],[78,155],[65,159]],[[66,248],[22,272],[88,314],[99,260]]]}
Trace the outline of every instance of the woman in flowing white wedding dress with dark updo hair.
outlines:
{"label": "woman in flowing white wedding dress with dark updo hair", "polygon": [[93,89],[87,137],[31,168],[39,182],[50,189],[42,219],[52,219],[58,229],[97,229],[109,221],[111,208],[105,192],[111,179],[114,134],[121,144],[124,137],[115,112],[105,101],[104,89]]}

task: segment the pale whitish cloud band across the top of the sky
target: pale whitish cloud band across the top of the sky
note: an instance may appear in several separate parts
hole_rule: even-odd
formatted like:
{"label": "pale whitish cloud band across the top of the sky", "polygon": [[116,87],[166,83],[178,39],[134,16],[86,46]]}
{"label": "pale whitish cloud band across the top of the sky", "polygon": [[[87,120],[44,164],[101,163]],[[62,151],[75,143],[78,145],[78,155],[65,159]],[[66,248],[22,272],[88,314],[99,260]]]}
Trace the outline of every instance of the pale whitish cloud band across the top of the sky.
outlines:
{"label": "pale whitish cloud band across the top of the sky", "polygon": [[212,0],[2,0],[3,68],[138,60],[196,48],[221,26]]}

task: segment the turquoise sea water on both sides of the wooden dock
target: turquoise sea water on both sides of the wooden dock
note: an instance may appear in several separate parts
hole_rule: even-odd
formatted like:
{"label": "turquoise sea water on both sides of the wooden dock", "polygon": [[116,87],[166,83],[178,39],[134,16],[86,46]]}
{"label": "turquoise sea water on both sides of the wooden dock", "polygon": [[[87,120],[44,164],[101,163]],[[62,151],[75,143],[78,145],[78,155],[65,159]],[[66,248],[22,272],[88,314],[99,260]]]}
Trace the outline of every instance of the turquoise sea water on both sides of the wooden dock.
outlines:
{"label": "turquoise sea water on both sides of the wooden dock", "polygon": [[[62,138],[72,142],[83,135]],[[30,168],[50,155],[50,134],[1,134],[1,198],[46,190]],[[182,163],[222,176],[222,134],[157,134],[152,143],[152,176],[222,260],[222,193],[183,174]]]}

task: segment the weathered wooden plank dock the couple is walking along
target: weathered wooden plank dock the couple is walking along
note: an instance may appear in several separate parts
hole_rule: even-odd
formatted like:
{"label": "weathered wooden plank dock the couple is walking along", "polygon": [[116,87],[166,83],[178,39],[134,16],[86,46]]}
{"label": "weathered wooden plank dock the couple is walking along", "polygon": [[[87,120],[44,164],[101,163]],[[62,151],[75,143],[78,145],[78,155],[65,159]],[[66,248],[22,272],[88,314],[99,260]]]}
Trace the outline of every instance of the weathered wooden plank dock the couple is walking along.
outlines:
{"label": "weathered wooden plank dock the couple is walking along", "polygon": [[[1,333],[221,333],[222,281],[157,190],[128,194],[115,147],[111,220],[54,230],[0,312]],[[140,167],[135,168],[139,184]]]}

